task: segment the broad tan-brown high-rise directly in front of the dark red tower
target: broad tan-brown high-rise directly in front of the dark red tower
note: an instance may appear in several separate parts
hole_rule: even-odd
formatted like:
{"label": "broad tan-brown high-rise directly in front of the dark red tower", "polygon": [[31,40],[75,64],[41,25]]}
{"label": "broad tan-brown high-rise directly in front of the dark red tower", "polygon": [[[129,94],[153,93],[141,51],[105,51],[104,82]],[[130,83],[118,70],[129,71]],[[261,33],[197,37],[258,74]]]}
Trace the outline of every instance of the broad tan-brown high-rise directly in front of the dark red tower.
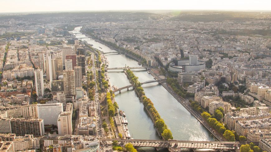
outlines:
{"label": "broad tan-brown high-rise directly in front of the dark red tower", "polygon": [[74,70],[63,70],[64,94],[75,95]]}

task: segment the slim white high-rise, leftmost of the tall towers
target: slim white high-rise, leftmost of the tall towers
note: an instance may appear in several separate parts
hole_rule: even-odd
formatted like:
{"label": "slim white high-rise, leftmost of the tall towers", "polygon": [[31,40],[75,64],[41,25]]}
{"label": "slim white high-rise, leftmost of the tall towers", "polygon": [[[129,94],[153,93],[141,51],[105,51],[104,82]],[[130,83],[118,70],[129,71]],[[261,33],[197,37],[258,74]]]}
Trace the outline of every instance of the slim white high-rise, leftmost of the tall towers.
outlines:
{"label": "slim white high-rise, leftmost of the tall towers", "polygon": [[41,69],[35,70],[35,85],[36,85],[36,94],[38,98],[41,99],[44,93],[43,72]]}

